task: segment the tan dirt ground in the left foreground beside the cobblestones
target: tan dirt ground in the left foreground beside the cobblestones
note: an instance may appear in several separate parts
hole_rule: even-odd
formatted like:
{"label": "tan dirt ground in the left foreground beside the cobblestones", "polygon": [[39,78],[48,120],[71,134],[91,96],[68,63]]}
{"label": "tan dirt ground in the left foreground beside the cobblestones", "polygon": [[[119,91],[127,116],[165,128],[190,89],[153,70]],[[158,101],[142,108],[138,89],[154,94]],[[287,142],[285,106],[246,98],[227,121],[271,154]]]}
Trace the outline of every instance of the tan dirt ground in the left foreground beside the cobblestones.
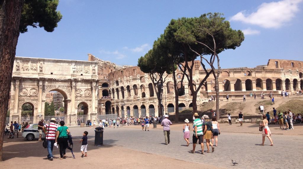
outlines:
{"label": "tan dirt ground in the left foreground beside the cobblestones", "polygon": [[[146,166],[152,168],[174,168],[183,169],[185,166],[189,168],[196,168],[200,165],[201,168],[220,168],[210,164],[197,164],[188,161],[181,161],[161,155],[154,155],[144,153],[136,150],[126,149],[119,145],[104,145],[102,150],[99,147],[88,147],[88,157],[81,158],[81,152],[78,150],[80,144],[77,139],[74,139],[74,154],[75,159],[67,157],[66,159],[58,159],[60,157],[59,149],[54,147],[53,155],[54,160],[49,161],[46,157],[47,150],[42,147],[42,142],[38,141],[25,141],[22,137],[19,139],[6,139],[3,146],[3,160],[0,162],[3,169],[12,167],[21,167],[23,169],[33,168],[64,168],[64,169],[84,169],[84,168],[108,168],[108,169],[142,169]],[[93,142],[88,141],[89,145]],[[151,147],[138,147],[138,148],[151,148]],[[35,151],[33,151],[35,150]],[[70,155],[70,151],[67,155]],[[197,159],[198,160],[198,159]],[[16,165],[18,164],[18,165]],[[157,167],[155,167],[155,165]]]}

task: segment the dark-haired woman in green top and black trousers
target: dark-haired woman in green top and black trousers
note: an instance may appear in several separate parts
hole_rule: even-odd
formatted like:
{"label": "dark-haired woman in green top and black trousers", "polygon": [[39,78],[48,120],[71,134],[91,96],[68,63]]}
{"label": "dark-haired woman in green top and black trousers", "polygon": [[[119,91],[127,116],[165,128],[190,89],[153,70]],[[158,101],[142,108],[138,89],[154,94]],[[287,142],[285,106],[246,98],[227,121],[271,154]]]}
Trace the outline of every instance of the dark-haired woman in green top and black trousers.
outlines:
{"label": "dark-haired woman in green top and black trousers", "polygon": [[67,126],[64,126],[64,121],[60,122],[60,127],[57,129],[56,142],[58,140],[59,148],[60,148],[60,158],[66,158],[65,150],[68,147],[67,139],[69,135],[69,130]]}

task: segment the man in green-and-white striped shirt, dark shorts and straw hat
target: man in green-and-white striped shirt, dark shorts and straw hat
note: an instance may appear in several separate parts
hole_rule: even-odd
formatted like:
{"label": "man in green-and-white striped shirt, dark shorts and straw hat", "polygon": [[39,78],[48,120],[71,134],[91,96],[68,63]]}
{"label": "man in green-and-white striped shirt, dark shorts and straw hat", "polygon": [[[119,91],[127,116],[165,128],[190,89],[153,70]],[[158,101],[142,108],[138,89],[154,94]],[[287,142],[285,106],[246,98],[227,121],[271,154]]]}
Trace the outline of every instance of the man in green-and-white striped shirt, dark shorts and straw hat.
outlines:
{"label": "man in green-and-white striped shirt, dark shorts and straw hat", "polygon": [[[203,144],[203,123],[202,120],[199,118],[198,113],[194,114],[195,116],[195,121],[194,121],[194,135],[192,136],[192,150],[190,150],[190,153],[195,153],[195,148],[196,148],[196,144],[197,141],[199,140],[199,144],[201,145],[201,149],[202,149],[202,154],[204,153],[204,144]],[[206,129],[206,126],[205,128]]]}

